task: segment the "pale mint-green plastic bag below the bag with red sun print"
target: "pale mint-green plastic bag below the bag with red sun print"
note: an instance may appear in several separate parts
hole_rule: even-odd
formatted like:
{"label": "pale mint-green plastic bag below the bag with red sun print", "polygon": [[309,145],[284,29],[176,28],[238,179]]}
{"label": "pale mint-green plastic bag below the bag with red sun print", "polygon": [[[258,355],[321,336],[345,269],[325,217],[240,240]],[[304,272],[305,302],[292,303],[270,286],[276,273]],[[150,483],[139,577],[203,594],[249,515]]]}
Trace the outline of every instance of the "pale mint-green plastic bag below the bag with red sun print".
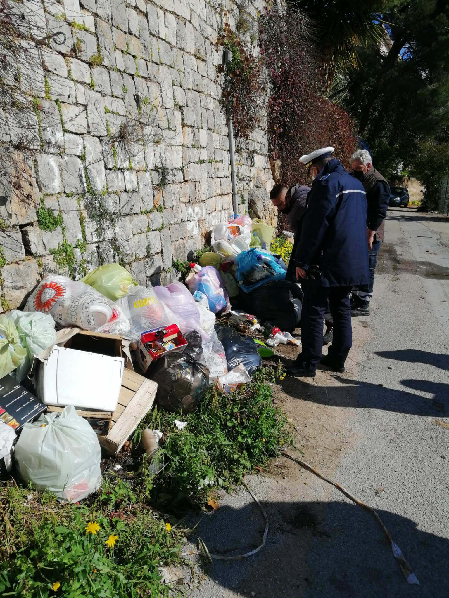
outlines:
{"label": "pale mint-green plastic bag below the bag with red sun print", "polygon": [[28,376],[33,357],[56,342],[56,330],[51,316],[40,312],[20,312],[13,309],[6,316],[14,323],[19,335],[19,344],[26,350],[25,358],[13,373],[17,382]]}

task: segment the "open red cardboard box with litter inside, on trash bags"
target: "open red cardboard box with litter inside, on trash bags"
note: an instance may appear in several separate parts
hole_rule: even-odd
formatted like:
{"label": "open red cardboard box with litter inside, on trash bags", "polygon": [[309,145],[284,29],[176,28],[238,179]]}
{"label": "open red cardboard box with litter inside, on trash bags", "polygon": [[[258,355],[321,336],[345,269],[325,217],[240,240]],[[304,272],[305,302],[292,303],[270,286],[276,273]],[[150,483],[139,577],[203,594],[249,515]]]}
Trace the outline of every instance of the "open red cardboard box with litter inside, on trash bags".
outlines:
{"label": "open red cardboard box with litter inside, on trash bags", "polygon": [[145,374],[154,359],[159,359],[168,353],[181,353],[187,344],[176,324],[148,330],[141,335],[137,344],[136,360]]}

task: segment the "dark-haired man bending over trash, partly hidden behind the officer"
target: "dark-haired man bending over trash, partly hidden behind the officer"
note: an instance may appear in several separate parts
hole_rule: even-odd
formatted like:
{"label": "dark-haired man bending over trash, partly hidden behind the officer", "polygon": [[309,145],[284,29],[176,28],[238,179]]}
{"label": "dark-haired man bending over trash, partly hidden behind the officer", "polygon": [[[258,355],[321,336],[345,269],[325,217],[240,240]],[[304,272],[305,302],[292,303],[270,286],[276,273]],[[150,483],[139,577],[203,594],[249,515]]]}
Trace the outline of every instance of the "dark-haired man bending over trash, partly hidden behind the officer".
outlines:
{"label": "dark-haired man bending over trash, partly hidden behind the officer", "polygon": [[[295,255],[299,237],[301,236],[302,219],[304,218],[309,191],[310,187],[306,187],[305,185],[300,186],[297,183],[293,187],[290,187],[290,189],[283,187],[283,185],[275,185],[270,193],[272,204],[286,215],[289,231],[292,231],[294,234],[292,256]],[[295,260],[292,258],[290,258],[289,266],[287,267],[286,278],[296,282]]]}

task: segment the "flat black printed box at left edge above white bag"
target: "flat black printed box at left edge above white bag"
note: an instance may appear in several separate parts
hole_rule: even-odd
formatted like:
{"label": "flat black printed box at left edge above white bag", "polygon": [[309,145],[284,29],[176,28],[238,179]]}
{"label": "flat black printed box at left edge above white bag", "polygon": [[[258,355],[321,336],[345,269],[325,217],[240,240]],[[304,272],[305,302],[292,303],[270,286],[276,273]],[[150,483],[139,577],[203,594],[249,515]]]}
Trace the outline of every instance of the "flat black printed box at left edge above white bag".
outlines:
{"label": "flat black printed box at left edge above white bag", "polygon": [[0,380],[0,420],[19,432],[47,409],[9,374]]}

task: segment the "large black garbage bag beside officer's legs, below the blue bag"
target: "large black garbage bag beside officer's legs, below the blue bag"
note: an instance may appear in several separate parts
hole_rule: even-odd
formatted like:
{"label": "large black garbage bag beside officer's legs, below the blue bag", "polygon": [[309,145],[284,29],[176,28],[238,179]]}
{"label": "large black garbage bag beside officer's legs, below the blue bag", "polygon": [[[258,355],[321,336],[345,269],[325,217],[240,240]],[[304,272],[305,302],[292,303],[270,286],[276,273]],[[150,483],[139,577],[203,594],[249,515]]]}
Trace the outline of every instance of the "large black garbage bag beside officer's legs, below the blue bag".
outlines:
{"label": "large black garbage bag beside officer's legs, below the blue bag", "polygon": [[249,293],[239,292],[234,309],[252,313],[259,322],[270,322],[283,332],[293,332],[301,318],[301,289],[290,280],[279,280],[260,285]]}

